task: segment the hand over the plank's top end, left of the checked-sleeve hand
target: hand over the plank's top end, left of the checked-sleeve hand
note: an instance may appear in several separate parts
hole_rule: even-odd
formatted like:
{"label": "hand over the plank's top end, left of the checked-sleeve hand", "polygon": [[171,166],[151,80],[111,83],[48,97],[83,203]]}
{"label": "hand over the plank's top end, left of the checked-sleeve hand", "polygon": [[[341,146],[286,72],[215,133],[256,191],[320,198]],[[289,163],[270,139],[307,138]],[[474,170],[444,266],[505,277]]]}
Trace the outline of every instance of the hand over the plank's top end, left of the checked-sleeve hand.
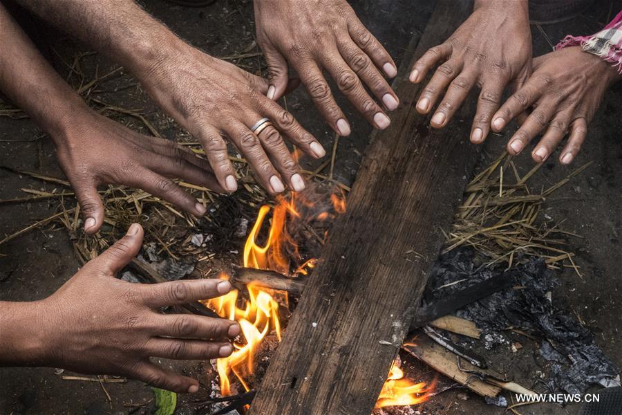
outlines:
{"label": "hand over the plank's top end, left of the checked-sleeve hand", "polygon": [[471,127],[471,141],[483,142],[505,86],[520,87],[531,69],[531,32],[527,1],[475,1],[473,13],[444,44],[415,62],[411,82],[419,83],[443,62],[423,89],[417,111],[429,113],[441,98],[431,125],[444,127],[469,95],[481,89]]}

